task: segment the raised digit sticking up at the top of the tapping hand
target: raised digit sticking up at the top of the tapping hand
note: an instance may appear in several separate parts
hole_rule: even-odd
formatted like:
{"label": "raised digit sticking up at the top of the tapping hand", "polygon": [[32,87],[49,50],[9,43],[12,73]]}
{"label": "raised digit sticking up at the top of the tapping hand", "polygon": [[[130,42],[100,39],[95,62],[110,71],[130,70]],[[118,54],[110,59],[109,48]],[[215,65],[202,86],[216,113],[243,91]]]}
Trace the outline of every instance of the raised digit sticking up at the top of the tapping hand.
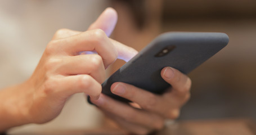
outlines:
{"label": "raised digit sticking up at the top of the tapping hand", "polygon": [[115,28],[116,21],[118,20],[118,14],[116,11],[108,7],[104,10],[98,19],[89,26],[88,30],[102,29],[107,36],[110,36]]}

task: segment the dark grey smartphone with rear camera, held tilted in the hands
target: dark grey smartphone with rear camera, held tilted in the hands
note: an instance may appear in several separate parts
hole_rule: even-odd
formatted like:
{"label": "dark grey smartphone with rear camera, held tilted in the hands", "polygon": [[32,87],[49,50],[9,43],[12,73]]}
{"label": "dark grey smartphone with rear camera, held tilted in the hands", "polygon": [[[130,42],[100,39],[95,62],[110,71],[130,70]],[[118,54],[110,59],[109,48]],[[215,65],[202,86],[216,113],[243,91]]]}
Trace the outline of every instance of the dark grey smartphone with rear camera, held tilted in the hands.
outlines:
{"label": "dark grey smartphone with rear camera, held tilted in the hands", "polygon": [[161,78],[161,69],[170,66],[188,74],[225,47],[228,41],[228,35],[224,33],[161,34],[106,79],[102,83],[102,93],[115,100],[129,102],[110,91],[113,83],[124,82],[160,95],[170,87],[170,84]]}

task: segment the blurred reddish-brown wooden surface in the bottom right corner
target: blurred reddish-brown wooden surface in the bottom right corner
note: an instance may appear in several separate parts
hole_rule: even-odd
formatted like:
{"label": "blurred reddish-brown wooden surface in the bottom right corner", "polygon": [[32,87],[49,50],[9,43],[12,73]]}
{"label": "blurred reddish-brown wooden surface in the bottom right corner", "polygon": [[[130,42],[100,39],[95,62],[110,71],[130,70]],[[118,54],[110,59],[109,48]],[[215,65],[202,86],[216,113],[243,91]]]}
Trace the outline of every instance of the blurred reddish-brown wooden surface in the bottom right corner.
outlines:
{"label": "blurred reddish-brown wooden surface in the bottom right corner", "polygon": [[189,134],[189,135],[222,135],[222,134],[244,134],[253,135],[256,125],[252,120],[225,119],[225,120],[196,120],[174,123],[158,134]]}

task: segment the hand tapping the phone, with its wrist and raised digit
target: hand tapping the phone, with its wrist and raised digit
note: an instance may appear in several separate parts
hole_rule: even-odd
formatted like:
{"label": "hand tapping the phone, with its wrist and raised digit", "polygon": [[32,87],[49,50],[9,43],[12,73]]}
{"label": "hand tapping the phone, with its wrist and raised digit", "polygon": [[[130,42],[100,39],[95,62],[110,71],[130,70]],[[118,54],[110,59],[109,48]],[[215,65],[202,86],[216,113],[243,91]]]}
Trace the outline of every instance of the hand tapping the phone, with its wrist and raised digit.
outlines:
{"label": "hand tapping the phone, with its wrist and raised digit", "polygon": [[[107,37],[116,20],[115,10],[107,8],[85,32],[58,30],[32,77],[1,91],[0,131],[27,123],[49,122],[75,93],[83,92],[97,99],[107,66],[117,58],[131,59],[137,53]],[[79,55],[83,51],[97,54]]]}

